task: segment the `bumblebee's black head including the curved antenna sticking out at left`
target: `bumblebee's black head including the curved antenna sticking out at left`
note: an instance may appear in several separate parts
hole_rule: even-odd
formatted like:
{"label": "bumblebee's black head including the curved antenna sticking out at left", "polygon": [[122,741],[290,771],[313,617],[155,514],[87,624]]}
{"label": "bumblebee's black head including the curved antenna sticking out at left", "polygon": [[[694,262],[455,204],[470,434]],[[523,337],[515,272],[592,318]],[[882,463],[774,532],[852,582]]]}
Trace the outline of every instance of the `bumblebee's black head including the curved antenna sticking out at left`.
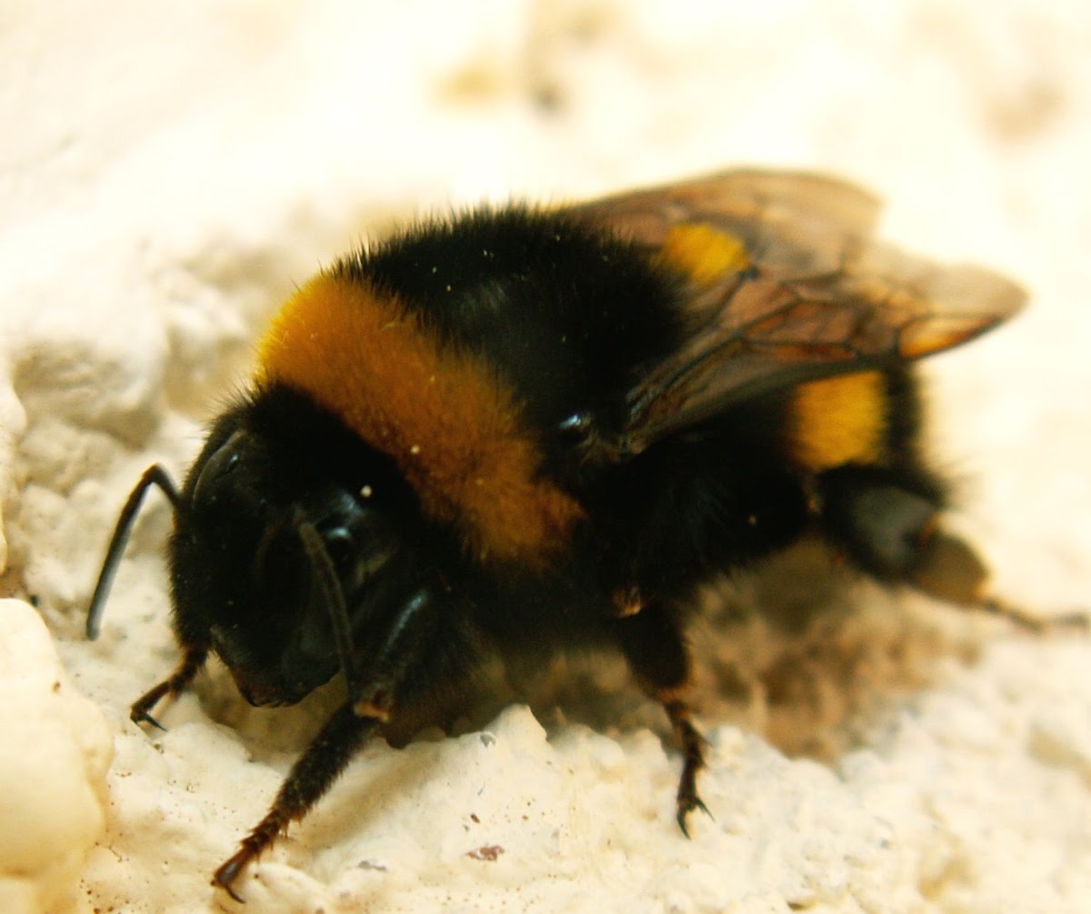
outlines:
{"label": "bumblebee's black head including the curved antenna sticking out at left", "polygon": [[149,469],[118,522],[88,635],[143,494],[158,484],[175,506],[180,644],[216,653],[255,706],[295,703],[337,672],[351,682],[411,581],[405,524],[416,509],[386,458],[347,431],[338,437],[336,424],[278,393],[223,414],[180,491]]}

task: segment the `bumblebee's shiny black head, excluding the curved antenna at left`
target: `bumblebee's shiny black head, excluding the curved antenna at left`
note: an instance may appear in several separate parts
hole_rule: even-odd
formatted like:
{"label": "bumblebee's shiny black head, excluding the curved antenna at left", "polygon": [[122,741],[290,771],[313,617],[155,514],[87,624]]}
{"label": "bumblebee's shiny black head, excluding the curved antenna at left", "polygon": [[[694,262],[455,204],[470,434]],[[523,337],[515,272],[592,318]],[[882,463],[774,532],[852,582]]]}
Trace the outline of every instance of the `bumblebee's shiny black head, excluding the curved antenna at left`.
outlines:
{"label": "bumblebee's shiny black head, excluding the curved antenna at left", "polygon": [[252,705],[291,705],[346,669],[338,621],[367,641],[403,550],[379,477],[340,476],[307,450],[305,426],[286,454],[283,436],[274,444],[247,419],[217,423],[180,494],[175,623],[183,642],[211,647]]}

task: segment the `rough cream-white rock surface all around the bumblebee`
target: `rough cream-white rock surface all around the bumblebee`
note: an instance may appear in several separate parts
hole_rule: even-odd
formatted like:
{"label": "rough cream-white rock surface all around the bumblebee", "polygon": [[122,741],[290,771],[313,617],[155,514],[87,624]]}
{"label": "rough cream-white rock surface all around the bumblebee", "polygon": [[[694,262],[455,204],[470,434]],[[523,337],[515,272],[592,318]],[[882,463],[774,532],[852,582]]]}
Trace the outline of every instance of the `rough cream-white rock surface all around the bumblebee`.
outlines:
{"label": "rough cream-white rock surface all around the bumblebee", "polygon": [[[999,590],[1091,603],[1091,10],[57,0],[3,20],[2,580],[36,599],[115,756],[104,794],[97,713],[25,604],[0,604],[4,911],[237,907],[208,876],[324,697],[252,711],[214,669],[165,734],[128,722],[176,659],[154,493],[93,645],[84,608],[129,486],[153,460],[183,470],[263,317],[415,211],[734,164],[874,188],[889,237],[1032,291],[1010,327],[935,361],[935,438]],[[245,910],[1086,909],[1088,641],[849,596],[817,654],[771,624],[736,633],[756,637],[748,697],[702,717],[715,820],[694,840],[673,825],[676,754],[635,723],[654,709],[622,698],[620,729],[592,730],[547,707],[547,734],[516,706],[480,732],[369,745],[240,882]]]}

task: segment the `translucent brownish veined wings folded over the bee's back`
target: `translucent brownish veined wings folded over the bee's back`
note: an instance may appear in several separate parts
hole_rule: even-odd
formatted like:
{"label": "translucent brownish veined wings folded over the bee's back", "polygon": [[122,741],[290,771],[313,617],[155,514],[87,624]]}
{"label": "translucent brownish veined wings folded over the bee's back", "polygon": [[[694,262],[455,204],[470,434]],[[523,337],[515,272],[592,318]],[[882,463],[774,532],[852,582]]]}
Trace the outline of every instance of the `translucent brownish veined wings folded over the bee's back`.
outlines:
{"label": "translucent brownish veined wings folded over the bee's back", "polygon": [[1022,289],[1002,276],[874,241],[878,208],[843,181],[754,170],[572,207],[651,256],[694,226],[744,251],[738,268],[692,282],[685,345],[646,366],[618,438],[600,444],[635,455],[760,393],[958,346],[1022,305]]}

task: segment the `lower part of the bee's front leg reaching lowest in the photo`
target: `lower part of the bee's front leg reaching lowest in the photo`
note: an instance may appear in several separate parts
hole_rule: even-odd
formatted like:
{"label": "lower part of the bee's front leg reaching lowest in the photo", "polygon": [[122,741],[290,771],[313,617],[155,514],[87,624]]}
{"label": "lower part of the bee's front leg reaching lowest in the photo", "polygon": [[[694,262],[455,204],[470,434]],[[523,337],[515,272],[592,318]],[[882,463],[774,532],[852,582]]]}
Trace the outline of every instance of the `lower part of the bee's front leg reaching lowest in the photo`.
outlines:
{"label": "lower part of the bee's front leg reaching lowest in the photo", "polygon": [[242,868],[272,844],[289,822],[307,815],[381,723],[379,718],[360,717],[351,703],[340,707],[296,760],[265,818],[242,840],[236,854],[213,874],[212,885],[242,902],[232,888]]}

